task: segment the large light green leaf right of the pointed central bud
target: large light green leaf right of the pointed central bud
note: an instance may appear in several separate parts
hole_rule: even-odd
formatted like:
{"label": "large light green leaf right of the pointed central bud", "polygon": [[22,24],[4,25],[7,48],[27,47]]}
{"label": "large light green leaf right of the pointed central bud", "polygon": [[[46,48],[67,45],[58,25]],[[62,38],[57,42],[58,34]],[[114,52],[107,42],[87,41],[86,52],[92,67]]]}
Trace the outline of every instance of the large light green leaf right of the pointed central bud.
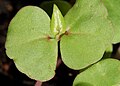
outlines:
{"label": "large light green leaf right of the pointed central bud", "polygon": [[65,23],[67,34],[60,42],[63,62],[70,68],[81,69],[100,60],[113,34],[101,1],[77,0],[66,14]]}

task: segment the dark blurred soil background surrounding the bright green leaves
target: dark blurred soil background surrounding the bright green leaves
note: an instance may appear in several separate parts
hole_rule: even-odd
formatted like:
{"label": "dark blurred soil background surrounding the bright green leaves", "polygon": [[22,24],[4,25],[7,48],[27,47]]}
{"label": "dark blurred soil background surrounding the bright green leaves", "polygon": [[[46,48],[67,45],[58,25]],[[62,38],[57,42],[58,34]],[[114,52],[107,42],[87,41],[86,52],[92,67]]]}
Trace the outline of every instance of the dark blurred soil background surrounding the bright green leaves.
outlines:
{"label": "dark blurred soil background surrounding the bright green leaves", "polygon": [[[36,81],[19,72],[13,60],[5,53],[5,40],[9,22],[15,14],[24,6],[33,5],[43,8],[51,17],[52,4],[57,4],[63,15],[74,5],[75,0],[64,0],[64,5],[58,3],[60,0],[0,0],[0,86],[34,86]],[[62,1],[62,0],[61,0]],[[119,44],[113,45],[113,53],[120,59]],[[72,82],[79,71],[67,68],[61,61],[60,54],[55,77],[39,86],[72,86]],[[36,86],[38,86],[36,84]]]}

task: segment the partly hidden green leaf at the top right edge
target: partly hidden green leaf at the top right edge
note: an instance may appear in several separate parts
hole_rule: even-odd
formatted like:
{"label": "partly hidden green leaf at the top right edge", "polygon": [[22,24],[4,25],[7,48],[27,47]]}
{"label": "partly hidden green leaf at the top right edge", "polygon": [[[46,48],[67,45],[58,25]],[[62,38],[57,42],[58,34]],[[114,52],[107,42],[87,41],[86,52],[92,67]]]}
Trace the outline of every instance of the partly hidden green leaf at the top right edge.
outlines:
{"label": "partly hidden green leaf at the top right edge", "polygon": [[113,43],[120,42],[120,0],[102,0],[114,27]]}

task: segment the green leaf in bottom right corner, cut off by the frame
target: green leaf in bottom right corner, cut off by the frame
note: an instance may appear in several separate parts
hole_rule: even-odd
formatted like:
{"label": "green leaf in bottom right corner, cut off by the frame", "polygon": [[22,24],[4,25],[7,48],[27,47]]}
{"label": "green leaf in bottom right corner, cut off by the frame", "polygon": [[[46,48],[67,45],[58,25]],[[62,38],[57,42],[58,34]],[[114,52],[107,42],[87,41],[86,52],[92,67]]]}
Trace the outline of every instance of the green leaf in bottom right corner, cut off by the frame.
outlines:
{"label": "green leaf in bottom right corner, cut off by the frame", "polygon": [[74,80],[73,86],[119,86],[120,61],[115,59],[102,60]]}

